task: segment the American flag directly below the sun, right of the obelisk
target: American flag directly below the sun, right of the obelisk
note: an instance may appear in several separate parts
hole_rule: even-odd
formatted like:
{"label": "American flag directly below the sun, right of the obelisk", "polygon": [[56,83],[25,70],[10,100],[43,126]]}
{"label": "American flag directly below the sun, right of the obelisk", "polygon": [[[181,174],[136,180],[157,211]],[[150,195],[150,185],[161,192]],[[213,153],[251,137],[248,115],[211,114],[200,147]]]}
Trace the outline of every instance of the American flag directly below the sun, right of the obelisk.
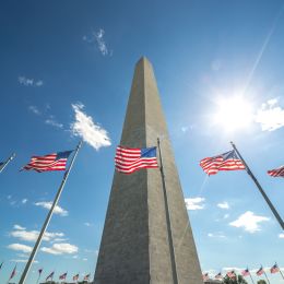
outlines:
{"label": "American flag directly below the sun, right of the obelisk", "polygon": [[200,161],[200,166],[209,176],[217,174],[218,170],[237,170],[246,168],[238,158],[235,150],[214,157],[205,157]]}

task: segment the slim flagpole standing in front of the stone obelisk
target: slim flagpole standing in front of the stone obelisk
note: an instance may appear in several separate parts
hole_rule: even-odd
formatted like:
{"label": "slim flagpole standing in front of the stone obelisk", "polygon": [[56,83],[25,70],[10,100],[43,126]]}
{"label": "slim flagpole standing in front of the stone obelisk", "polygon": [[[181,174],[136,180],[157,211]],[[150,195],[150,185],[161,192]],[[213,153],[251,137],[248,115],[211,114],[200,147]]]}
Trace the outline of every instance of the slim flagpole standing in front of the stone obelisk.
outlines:
{"label": "slim flagpole standing in front of the stone obelisk", "polygon": [[158,156],[159,156],[159,170],[162,176],[162,186],[163,186],[163,193],[165,200],[165,211],[166,211],[166,222],[167,222],[167,232],[168,232],[168,242],[169,242],[169,253],[171,260],[171,269],[174,274],[174,284],[178,284],[177,277],[177,268],[176,268],[176,258],[175,258],[175,248],[171,235],[171,227],[170,227],[170,217],[169,217],[169,210],[168,210],[168,201],[167,201],[167,191],[166,191],[166,182],[165,182],[165,173],[163,167],[163,158],[162,158],[162,151],[159,145],[159,138],[157,138],[157,147],[158,147]]}

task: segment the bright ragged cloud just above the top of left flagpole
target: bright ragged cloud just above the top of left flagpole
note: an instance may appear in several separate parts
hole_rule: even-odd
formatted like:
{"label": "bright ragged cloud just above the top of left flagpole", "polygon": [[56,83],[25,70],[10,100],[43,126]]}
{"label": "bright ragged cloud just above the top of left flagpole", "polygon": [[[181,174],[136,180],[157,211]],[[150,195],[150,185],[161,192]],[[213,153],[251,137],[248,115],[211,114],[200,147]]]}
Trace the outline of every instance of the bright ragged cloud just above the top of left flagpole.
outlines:
{"label": "bright ragged cloud just above the top of left flagpole", "polygon": [[75,111],[75,121],[71,123],[73,135],[81,137],[95,150],[111,145],[107,131],[95,125],[93,118],[83,113],[84,106],[82,104],[72,105],[72,107]]}

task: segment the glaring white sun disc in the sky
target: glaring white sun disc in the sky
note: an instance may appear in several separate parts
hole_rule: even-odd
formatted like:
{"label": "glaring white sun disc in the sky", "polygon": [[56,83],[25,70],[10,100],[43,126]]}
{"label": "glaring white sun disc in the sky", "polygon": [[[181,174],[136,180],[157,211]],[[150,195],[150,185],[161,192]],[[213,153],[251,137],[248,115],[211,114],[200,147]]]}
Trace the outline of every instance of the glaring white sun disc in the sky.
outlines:
{"label": "glaring white sun disc in the sky", "polygon": [[226,131],[236,131],[250,126],[253,119],[251,104],[242,96],[220,97],[213,122]]}

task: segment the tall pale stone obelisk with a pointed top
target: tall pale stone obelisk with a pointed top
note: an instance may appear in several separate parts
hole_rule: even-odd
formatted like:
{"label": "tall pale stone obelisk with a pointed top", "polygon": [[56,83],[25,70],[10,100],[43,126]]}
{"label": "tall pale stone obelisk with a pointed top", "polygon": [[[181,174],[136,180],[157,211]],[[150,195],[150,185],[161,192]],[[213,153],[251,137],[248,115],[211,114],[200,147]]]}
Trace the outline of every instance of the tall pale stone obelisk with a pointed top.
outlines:
{"label": "tall pale stone obelisk with a pointed top", "polygon": [[115,173],[95,284],[203,283],[156,80],[150,61],[142,57],[120,145],[155,146],[157,138],[164,179],[156,168]]}

